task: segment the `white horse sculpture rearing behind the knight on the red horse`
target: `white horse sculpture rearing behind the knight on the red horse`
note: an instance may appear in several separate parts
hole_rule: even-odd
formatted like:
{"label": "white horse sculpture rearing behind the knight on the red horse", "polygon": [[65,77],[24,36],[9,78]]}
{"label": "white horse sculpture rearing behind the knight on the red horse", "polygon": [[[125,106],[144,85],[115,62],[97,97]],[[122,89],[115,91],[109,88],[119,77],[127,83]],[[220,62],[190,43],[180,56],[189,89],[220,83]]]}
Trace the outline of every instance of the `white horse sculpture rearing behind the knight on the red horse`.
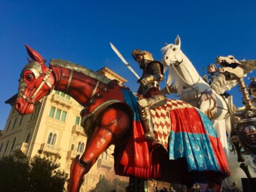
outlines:
{"label": "white horse sculpture rearing behind the knight on the red horse", "polygon": [[167,86],[177,89],[177,94],[185,102],[199,108],[206,114],[212,114],[212,120],[223,148],[228,153],[226,131],[230,134],[230,110],[228,99],[216,94],[205,82],[180,49],[179,36],[175,44],[162,48],[162,63],[169,67]]}

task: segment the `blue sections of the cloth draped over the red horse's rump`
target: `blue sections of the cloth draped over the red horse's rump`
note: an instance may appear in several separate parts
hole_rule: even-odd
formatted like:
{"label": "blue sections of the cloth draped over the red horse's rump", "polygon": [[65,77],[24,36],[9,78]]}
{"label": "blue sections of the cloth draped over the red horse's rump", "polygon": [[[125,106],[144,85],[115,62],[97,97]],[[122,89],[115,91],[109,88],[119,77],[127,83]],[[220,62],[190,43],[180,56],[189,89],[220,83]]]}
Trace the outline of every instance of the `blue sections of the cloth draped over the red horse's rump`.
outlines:
{"label": "blue sections of the cloth draped over the red horse's rump", "polygon": [[169,134],[169,159],[186,158],[189,170],[218,170],[209,136],[217,137],[212,123],[198,110],[207,134],[174,132]]}

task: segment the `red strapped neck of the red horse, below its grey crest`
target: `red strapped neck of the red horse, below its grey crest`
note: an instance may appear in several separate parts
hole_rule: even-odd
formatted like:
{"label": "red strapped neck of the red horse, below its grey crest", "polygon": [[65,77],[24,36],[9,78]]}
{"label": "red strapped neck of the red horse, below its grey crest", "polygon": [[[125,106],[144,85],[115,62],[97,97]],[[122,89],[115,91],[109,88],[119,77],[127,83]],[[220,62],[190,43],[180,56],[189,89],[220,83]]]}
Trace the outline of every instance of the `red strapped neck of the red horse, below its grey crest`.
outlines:
{"label": "red strapped neck of the red horse, below its grey crest", "polygon": [[[52,66],[51,69],[55,76],[55,90],[60,90],[70,95],[81,105],[84,105],[92,96],[92,92],[97,84],[96,79],[76,71],[73,71],[73,74],[71,74],[70,69],[63,68],[62,66]],[[70,78],[71,75],[72,77]],[[104,84],[100,82],[97,90],[103,86]]]}

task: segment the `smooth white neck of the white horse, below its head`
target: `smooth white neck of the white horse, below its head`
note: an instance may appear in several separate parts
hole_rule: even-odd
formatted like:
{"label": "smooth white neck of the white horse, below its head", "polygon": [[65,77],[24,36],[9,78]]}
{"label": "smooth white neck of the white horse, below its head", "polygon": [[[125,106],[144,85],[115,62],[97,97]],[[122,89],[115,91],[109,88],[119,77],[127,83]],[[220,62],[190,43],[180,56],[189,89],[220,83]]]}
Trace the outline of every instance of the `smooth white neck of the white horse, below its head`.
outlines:
{"label": "smooth white neck of the white horse, below its head", "polygon": [[186,57],[186,55],[183,55],[183,62],[180,63],[180,66],[177,68],[178,73],[180,73],[180,76],[182,76],[184,82],[184,86],[187,87],[186,84],[192,86],[196,84],[199,79],[201,78],[198,74],[198,71],[194,68],[190,60]]}

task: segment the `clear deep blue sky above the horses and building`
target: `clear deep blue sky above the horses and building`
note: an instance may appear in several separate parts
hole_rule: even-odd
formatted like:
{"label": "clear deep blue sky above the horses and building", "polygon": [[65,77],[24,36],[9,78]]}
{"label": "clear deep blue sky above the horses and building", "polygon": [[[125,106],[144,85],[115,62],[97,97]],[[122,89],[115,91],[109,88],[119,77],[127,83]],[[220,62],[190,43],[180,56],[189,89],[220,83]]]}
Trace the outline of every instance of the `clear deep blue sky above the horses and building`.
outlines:
{"label": "clear deep blue sky above the horses and building", "polygon": [[[149,50],[161,60],[161,47],[174,42],[202,74],[202,66],[218,55],[256,59],[255,1],[5,1],[0,2],[0,58],[2,66],[0,129],[4,129],[26,64],[28,44],[46,60],[62,58],[92,70],[108,66],[138,84],[110,48],[119,49],[138,74],[133,49]],[[255,75],[255,72],[249,76]],[[241,106],[238,88],[231,91]]]}

